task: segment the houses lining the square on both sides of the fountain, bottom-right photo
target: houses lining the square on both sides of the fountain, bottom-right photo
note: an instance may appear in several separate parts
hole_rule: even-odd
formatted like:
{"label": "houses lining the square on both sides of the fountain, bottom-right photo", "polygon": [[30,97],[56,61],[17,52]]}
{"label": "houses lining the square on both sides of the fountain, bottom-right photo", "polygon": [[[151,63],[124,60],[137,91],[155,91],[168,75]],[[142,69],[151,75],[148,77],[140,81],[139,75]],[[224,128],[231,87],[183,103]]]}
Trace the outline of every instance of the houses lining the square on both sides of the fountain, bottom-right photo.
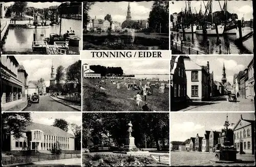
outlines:
{"label": "houses lining the square on both sides of the fountain, bottom-right photo", "polygon": [[[241,118],[232,129],[230,142],[240,153],[254,154],[254,121]],[[215,152],[224,143],[225,130],[206,130],[203,136],[187,138],[184,142],[170,142],[171,150]]]}

